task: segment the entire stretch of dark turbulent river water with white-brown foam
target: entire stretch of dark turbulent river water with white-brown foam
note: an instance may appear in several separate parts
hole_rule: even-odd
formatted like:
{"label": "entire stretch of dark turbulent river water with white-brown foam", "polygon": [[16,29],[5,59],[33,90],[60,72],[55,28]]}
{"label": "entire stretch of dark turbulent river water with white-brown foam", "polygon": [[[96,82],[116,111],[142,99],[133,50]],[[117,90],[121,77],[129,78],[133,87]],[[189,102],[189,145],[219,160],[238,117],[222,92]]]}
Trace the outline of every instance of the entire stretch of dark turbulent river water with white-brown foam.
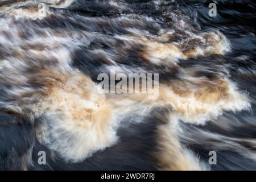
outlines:
{"label": "entire stretch of dark turbulent river water with white-brown foam", "polygon": [[[255,170],[256,5],[211,2],[1,0],[0,169]],[[97,92],[113,69],[158,98]]]}

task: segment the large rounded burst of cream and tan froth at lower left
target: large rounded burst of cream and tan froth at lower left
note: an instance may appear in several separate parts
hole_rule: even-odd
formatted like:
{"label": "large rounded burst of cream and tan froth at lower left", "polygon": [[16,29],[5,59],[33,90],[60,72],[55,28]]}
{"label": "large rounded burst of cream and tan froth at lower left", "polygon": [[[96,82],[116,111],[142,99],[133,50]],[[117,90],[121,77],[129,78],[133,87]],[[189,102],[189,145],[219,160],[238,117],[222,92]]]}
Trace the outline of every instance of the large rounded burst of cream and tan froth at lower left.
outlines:
{"label": "large rounded burst of cream and tan froth at lower left", "polygon": [[59,77],[40,101],[44,122],[40,142],[65,160],[77,162],[117,141],[112,107],[96,85],[81,73]]}

